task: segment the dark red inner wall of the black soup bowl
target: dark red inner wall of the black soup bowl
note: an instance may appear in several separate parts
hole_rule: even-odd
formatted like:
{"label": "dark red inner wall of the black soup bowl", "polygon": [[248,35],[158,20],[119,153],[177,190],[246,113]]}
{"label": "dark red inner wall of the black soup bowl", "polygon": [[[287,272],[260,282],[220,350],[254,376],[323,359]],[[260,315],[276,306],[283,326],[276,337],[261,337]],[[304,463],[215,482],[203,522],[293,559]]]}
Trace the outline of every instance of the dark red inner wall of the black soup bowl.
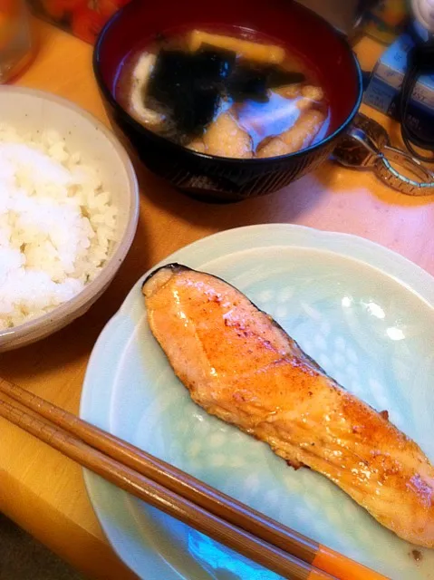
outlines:
{"label": "dark red inner wall of the black soup bowl", "polygon": [[313,64],[330,100],[329,134],[339,130],[361,98],[360,70],[342,37],[321,18],[291,0],[133,0],[102,31],[98,74],[114,100],[121,63],[138,44],[179,26],[242,26],[274,37]]}

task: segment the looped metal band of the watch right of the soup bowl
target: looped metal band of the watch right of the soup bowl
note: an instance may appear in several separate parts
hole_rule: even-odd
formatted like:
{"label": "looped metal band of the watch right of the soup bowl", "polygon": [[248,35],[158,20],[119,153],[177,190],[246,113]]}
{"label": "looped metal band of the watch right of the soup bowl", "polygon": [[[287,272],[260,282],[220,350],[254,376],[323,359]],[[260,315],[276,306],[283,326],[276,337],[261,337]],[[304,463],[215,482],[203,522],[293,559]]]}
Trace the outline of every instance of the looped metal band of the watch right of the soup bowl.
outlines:
{"label": "looped metal band of the watch right of the soup bowl", "polygon": [[[419,181],[402,175],[391,166],[396,163],[404,169],[408,169]],[[429,196],[434,194],[434,175],[425,168],[420,160],[416,160],[405,151],[385,145],[374,164],[375,174],[393,189],[409,196]]]}

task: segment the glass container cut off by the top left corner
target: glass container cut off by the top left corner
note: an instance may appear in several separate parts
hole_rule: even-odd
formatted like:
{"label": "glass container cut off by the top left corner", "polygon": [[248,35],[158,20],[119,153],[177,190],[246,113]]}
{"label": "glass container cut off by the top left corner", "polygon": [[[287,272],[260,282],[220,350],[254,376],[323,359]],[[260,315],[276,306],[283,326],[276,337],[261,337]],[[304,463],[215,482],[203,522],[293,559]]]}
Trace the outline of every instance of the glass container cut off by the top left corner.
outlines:
{"label": "glass container cut off by the top left corner", "polygon": [[0,0],[0,83],[19,73],[32,55],[24,0]]}

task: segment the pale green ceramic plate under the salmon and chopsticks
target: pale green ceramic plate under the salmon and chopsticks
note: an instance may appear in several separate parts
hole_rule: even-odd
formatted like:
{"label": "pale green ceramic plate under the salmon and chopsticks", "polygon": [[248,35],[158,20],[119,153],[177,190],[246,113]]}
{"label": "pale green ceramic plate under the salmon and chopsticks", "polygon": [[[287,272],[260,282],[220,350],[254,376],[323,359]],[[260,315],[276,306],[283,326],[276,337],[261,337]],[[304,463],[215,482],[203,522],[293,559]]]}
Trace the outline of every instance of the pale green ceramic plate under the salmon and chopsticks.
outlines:
{"label": "pale green ceramic plate under the salmon and chopsticks", "polygon": [[[362,238],[289,225],[207,237],[165,263],[173,261],[236,285],[346,389],[387,409],[434,460],[430,275]],[[141,282],[96,343],[82,418],[384,575],[434,578],[434,550],[421,549],[415,562],[414,546],[333,483],[308,469],[294,471],[265,444],[190,400],[149,332]],[[112,546],[140,577],[277,578],[101,478],[88,472],[85,478]]]}

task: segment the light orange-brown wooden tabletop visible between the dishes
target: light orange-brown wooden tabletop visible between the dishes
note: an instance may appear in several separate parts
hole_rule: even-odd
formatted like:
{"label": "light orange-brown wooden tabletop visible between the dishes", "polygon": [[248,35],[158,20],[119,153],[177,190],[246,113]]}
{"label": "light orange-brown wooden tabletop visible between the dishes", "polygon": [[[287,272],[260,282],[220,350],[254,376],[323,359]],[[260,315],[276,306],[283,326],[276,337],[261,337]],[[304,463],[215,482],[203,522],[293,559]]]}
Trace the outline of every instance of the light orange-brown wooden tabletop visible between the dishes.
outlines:
{"label": "light orange-brown wooden tabletop visible between the dishes", "polygon": [[[107,122],[92,75],[92,47],[35,21],[39,52],[16,84],[54,92]],[[362,67],[381,47],[357,46]],[[398,142],[398,127],[368,110]],[[291,187],[265,198],[213,206],[182,196],[145,169],[140,179],[140,225],[113,284],[91,312],[33,346],[0,355],[1,375],[68,411],[79,408],[83,375],[102,326],[130,286],[179,247],[230,227],[267,222],[303,224],[369,238],[407,256],[434,275],[434,199],[387,189],[371,173],[327,162]],[[0,511],[92,578],[135,578],[104,538],[84,488],[82,470],[69,459],[0,420]]]}

